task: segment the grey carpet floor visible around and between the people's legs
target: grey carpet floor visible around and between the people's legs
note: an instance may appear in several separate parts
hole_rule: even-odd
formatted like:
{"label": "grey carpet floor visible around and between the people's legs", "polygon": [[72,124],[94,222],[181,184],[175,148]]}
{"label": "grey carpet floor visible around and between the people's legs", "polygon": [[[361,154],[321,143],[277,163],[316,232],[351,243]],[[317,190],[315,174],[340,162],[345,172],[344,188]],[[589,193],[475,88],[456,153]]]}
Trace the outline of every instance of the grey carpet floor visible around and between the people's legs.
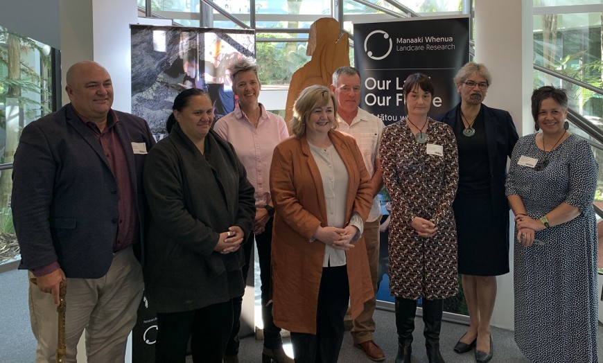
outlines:
{"label": "grey carpet floor visible around and between the people's legs", "polygon": [[[35,360],[35,339],[31,333],[27,303],[27,274],[24,271],[9,271],[0,274],[0,363],[30,363]],[[385,362],[394,362],[397,351],[394,312],[377,310],[374,315],[376,332],[374,340],[385,351]],[[473,353],[458,355],[452,350],[464,334],[466,326],[444,322],[441,333],[441,350],[447,363],[475,362]],[[426,362],[423,321],[417,317],[413,343],[413,363]],[[494,357],[492,363],[529,362],[517,348],[513,332],[492,329]],[[598,332],[599,360],[603,362],[603,329]],[[286,339],[288,343],[288,339]],[[290,345],[286,346],[290,351]],[[241,363],[261,362],[262,342],[254,337],[241,340]],[[187,362],[192,362],[189,358]],[[339,362],[371,362],[358,348],[353,347],[349,333],[344,336]]]}

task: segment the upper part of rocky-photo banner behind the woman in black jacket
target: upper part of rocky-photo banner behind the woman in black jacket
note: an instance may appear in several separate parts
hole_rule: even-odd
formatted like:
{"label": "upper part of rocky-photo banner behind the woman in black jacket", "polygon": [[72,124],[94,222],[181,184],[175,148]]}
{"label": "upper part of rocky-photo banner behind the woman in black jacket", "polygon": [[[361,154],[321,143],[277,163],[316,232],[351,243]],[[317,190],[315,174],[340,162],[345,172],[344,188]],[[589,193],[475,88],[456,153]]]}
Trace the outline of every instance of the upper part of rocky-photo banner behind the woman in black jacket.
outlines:
{"label": "upper part of rocky-photo banner behind the woman in black jacket", "polygon": [[227,69],[242,57],[255,57],[254,30],[130,25],[130,33],[132,114],[149,123],[157,140],[184,89],[209,92],[216,119],[234,109]]}

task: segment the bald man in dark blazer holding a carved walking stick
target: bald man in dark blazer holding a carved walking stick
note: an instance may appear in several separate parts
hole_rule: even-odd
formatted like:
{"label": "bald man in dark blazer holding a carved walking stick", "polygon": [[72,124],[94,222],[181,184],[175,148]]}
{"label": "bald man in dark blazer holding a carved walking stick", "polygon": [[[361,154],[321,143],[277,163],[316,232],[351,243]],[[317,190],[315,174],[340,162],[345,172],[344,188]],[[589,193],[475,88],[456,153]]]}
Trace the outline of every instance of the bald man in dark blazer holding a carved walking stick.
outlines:
{"label": "bald man in dark blazer holding a carved walking stick", "polygon": [[111,109],[96,62],[73,64],[71,103],[27,125],[15,153],[12,213],[28,269],[37,362],[55,362],[60,281],[67,281],[67,362],[86,330],[88,362],[124,362],[143,290],[141,175],[155,145],[142,118]]}

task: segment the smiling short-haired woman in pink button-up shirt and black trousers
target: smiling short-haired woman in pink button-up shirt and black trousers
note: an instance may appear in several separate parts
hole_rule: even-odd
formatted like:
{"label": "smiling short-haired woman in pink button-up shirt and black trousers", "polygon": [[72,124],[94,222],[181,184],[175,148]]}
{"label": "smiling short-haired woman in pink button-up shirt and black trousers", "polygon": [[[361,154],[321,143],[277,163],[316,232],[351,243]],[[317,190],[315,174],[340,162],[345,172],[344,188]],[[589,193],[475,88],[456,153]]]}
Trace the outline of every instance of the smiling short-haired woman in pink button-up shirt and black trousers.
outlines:
{"label": "smiling short-haired woman in pink button-up shirt and black trousers", "polygon": [[[261,84],[258,79],[258,67],[250,60],[239,60],[229,67],[232,90],[238,98],[233,112],[220,118],[213,126],[222,139],[234,146],[241,159],[247,179],[255,188],[256,217],[254,233],[251,234],[243,248],[246,264],[243,267],[243,278],[247,279],[249,261],[255,239],[261,276],[262,320],[264,325],[264,347],[262,362],[274,360],[278,363],[292,363],[292,358],[283,351],[281,328],[274,326],[270,301],[270,245],[272,243],[272,216],[274,208],[270,198],[268,177],[274,148],[289,137],[287,125],[281,116],[267,112],[258,102]],[[238,330],[241,327],[241,300],[235,307],[234,326],[231,341],[226,348],[224,362],[238,362]],[[238,312],[238,315],[237,315]]]}

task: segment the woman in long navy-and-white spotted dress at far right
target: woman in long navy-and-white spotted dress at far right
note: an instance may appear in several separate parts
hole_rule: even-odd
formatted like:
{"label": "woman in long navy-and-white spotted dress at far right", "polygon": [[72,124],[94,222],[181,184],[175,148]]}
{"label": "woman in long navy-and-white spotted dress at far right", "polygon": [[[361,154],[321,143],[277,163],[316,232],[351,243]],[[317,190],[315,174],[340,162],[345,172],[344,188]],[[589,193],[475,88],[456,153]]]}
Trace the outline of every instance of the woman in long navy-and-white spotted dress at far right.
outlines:
{"label": "woman in long navy-and-white spotted dress at far right", "polygon": [[[507,197],[515,214],[515,342],[532,362],[597,362],[597,163],[567,131],[568,96],[532,94],[538,134],[513,150]],[[564,122],[565,121],[565,122]]]}

